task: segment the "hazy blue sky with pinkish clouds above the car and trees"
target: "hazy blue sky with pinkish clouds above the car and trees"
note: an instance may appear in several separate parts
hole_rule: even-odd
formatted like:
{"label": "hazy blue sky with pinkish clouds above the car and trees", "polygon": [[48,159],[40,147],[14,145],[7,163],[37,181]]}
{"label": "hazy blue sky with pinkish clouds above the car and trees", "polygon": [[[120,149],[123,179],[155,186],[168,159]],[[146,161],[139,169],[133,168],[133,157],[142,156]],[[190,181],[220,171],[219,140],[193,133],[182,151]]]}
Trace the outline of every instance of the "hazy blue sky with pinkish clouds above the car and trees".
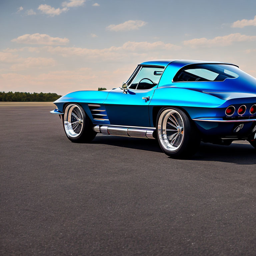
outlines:
{"label": "hazy blue sky with pinkish clouds above the car and trees", "polygon": [[256,1],[0,0],[0,91],[112,89],[153,59],[256,77]]}

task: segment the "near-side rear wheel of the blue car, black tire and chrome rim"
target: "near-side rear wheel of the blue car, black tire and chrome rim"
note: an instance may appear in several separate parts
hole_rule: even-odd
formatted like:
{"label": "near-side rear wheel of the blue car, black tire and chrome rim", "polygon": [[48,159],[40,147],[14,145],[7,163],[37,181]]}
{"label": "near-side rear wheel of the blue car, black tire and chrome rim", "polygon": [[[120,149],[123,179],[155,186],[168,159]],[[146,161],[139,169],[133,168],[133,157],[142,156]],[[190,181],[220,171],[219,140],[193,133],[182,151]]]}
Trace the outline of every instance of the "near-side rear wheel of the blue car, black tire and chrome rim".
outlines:
{"label": "near-side rear wheel of the blue car, black tire and chrome rim", "polygon": [[[169,114],[171,115],[168,117]],[[156,129],[159,145],[166,155],[172,158],[190,158],[197,152],[201,141],[199,132],[184,111],[175,107],[160,109]],[[177,137],[172,145],[175,136]]]}

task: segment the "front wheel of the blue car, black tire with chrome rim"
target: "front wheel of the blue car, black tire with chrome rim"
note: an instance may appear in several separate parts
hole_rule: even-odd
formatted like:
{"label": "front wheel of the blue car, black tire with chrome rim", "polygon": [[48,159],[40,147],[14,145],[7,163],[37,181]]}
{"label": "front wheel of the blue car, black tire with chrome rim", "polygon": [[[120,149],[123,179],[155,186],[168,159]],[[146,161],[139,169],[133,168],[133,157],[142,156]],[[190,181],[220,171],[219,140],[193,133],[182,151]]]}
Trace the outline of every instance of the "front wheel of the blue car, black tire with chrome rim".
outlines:
{"label": "front wheel of the blue car, black tire with chrome rim", "polygon": [[[70,111],[71,111],[71,114],[70,114]],[[73,112],[75,113],[75,116],[79,117],[78,119],[72,116]],[[79,122],[81,122],[81,119],[82,119],[82,124],[80,124],[81,129],[79,131],[73,130],[71,120],[69,120],[70,118],[69,114],[71,118],[75,118],[74,120],[77,119],[79,120]],[[66,121],[66,124],[65,124],[65,121]],[[70,121],[69,126],[68,126],[68,121]],[[79,123],[79,122],[77,121],[76,123]],[[70,141],[75,143],[89,143],[95,138],[97,134],[97,132],[93,130],[93,124],[90,118],[84,112],[83,108],[76,103],[71,103],[65,106],[64,115],[62,115],[62,123],[63,123],[63,128],[67,138]]]}

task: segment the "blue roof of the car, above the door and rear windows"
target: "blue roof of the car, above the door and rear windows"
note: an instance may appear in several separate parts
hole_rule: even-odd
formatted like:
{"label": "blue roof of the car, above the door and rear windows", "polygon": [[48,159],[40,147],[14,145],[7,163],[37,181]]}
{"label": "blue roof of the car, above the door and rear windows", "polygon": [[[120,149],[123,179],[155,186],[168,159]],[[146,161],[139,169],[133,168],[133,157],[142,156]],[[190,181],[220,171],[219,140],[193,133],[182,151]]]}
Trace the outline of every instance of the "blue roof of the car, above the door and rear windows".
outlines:
{"label": "blue roof of the car, above the door and rear windows", "polygon": [[[174,61],[178,62],[180,65],[183,64],[183,66],[186,66],[189,64],[199,64],[199,63],[234,65],[234,64],[228,63],[228,62],[206,61],[206,60],[149,60],[149,61],[142,62],[139,65],[153,65],[153,66],[167,67],[171,62],[174,62]],[[237,65],[234,65],[234,66],[237,66]]]}

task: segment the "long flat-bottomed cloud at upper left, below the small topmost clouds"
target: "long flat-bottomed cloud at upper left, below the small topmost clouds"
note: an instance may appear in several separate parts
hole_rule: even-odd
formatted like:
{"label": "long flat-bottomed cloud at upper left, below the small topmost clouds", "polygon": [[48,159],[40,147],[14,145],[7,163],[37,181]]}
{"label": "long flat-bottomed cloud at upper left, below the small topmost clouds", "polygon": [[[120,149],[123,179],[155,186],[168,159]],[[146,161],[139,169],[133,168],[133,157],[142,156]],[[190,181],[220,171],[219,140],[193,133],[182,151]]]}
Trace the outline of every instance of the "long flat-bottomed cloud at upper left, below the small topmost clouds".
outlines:
{"label": "long flat-bottomed cloud at upper left, below the small topmost clouds", "polygon": [[44,44],[44,45],[65,45],[69,42],[67,38],[51,37],[47,34],[25,34],[14,38],[11,42],[20,44]]}

